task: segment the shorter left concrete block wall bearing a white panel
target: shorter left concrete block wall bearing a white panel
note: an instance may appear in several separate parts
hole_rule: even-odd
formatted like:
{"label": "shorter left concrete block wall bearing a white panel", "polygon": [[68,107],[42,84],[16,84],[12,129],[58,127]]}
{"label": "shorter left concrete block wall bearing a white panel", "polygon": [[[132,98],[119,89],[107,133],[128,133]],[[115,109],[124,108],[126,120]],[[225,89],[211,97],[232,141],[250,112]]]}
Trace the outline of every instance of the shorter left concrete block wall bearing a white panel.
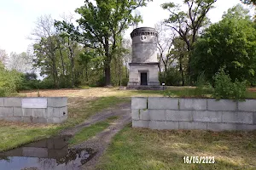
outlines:
{"label": "shorter left concrete block wall bearing a white panel", "polygon": [[[29,104],[42,99],[45,105]],[[26,105],[24,101],[26,100]],[[39,100],[38,100],[39,101]],[[61,123],[67,119],[67,98],[0,98],[0,120],[9,122]]]}

